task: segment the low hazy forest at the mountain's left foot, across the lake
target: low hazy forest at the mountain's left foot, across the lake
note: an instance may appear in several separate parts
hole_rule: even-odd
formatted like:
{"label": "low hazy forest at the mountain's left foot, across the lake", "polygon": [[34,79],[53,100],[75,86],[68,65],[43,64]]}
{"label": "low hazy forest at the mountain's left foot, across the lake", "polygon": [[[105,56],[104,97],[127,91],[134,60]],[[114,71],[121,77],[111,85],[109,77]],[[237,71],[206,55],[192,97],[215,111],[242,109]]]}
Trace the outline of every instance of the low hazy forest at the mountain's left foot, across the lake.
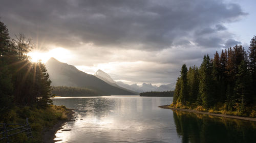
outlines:
{"label": "low hazy forest at the mountain's left foot, across the lake", "polygon": [[52,87],[52,94],[55,96],[101,96],[102,94],[87,88],[76,87]]}

